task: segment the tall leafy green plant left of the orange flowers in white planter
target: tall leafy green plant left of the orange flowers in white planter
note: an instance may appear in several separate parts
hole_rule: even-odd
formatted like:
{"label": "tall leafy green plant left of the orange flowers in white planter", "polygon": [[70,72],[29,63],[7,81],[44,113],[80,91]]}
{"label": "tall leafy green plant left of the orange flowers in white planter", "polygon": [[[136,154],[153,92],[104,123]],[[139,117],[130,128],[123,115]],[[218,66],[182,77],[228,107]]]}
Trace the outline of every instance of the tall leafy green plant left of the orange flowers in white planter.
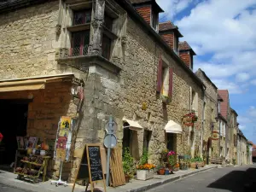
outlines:
{"label": "tall leafy green plant left of the orange flowers in white planter", "polygon": [[125,153],[123,156],[123,169],[125,173],[125,181],[129,183],[131,177],[133,176],[134,159],[129,152],[129,148],[125,148]]}

